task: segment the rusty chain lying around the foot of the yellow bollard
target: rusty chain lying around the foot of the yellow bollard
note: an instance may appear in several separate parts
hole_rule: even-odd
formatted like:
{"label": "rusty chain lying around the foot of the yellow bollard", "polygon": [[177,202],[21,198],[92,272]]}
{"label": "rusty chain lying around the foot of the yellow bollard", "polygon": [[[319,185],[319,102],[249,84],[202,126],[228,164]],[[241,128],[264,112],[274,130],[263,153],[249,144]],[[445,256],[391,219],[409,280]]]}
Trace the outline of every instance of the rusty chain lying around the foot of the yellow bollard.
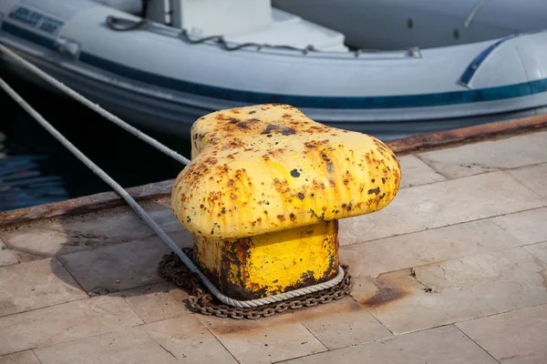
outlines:
{"label": "rusty chain lying around the foot of the yellow bollard", "polygon": [[[191,258],[191,248],[183,248],[182,251]],[[346,272],[344,280],[333,288],[310,293],[298,298],[287,299],[283,302],[272,303],[261,308],[234,308],[222,305],[212,297],[211,293],[207,292],[201,285],[200,278],[196,274],[189,272],[175,253],[163,256],[158,266],[158,274],[161,278],[170,279],[176,286],[191,291],[191,296],[188,298],[188,307],[193,312],[198,312],[205,316],[216,316],[218,318],[260,319],[273,316],[288,309],[314,307],[320,303],[325,304],[346,297],[351,290],[352,277],[349,275],[349,267],[342,266],[342,268]]]}

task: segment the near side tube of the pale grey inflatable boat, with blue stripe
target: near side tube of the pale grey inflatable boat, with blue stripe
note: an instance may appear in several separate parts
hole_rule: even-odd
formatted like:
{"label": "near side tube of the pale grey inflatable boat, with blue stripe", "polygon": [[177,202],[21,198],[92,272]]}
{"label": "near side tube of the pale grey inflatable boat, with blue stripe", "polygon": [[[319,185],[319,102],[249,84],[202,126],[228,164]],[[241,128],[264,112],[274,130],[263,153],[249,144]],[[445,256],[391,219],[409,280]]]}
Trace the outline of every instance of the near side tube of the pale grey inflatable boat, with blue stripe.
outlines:
{"label": "near side tube of the pale grey inflatable boat, with blue stripe", "polygon": [[[23,6],[10,1],[0,5],[5,13],[0,42],[119,116],[182,137],[198,117],[214,110],[262,103],[291,104],[319,122],[385,140],[532,116],[547,106],[542,32],[360,56],[253,47],[226,51],[214,42],[183,42],[167,27],[114,32],[105,26],[108,15],[135,18],[85,0],[74,0],[72,13],[47,14],[62,23],[55,35],[47,35],[10,17]],[[79,45],[76,56],[66,48],[59,52],[66,45],[62,40]]]}

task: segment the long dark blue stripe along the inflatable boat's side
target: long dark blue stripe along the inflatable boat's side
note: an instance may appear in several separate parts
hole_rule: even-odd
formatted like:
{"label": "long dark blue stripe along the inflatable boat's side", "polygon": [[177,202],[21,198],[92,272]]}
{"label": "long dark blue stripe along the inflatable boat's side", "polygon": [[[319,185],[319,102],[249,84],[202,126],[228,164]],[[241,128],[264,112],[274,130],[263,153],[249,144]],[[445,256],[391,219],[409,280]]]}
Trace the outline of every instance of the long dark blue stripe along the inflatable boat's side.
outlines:
{"label": "long dark blue stripe along the inflatable boat's side", "polygon": [[[2,30],[12,35],[20,36],[30,42],[55,49],[51,38],[37,35],[16,25],[5,23]],[[250,104],[281,103],[296,107],[335,108],[335,109],[375,109],[448,106],[495,101],[512,97],[530,96],[547,91],[547,78],[532,82],[524,82],[510,86],[497,86],[477,90],[462,90],[437,94],[421,94],[406,96],[299,96],[268,94],[253,91],[236,90],[232,88],[209,86],[171,77],[160,76],[150,72],[120,65],[108,59],[94,56],[86,52],[80,54],[79,60],[90,66],[95,66],[113,74],[128,77],[150,85],[161,86],[186,92],[193,95],[208,96],[222,100],[232,100]]]}

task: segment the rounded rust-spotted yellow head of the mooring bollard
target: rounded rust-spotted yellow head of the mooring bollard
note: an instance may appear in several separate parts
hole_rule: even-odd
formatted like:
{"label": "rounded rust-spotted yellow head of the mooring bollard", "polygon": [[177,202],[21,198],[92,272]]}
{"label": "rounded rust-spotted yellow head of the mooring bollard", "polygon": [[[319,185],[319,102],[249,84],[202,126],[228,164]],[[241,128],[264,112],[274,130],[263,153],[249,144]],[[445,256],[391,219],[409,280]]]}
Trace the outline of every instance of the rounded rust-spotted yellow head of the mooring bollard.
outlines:
{"label": "rounded rust-spotted yellow head of the mooring bollard", "polygon": [[192,162],[171,206],[191,233],[246,238],[377,211],[400,167],[372,136],[325,126],[287,105],[217,111],[192,126]]}

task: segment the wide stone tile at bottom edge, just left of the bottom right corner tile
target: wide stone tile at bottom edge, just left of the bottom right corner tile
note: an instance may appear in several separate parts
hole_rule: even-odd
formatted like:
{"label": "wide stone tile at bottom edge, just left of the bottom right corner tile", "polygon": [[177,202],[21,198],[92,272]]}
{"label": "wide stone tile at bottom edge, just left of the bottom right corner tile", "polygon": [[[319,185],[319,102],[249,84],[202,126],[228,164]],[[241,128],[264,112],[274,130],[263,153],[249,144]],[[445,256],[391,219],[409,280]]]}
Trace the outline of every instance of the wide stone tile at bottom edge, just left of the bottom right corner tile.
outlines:
{"label": "wide stone tile at bottom edge, just left of the bottom right corner tile", "polygon": [[496,364],[484,350],[453,326],[327,351],[287,364]]}

